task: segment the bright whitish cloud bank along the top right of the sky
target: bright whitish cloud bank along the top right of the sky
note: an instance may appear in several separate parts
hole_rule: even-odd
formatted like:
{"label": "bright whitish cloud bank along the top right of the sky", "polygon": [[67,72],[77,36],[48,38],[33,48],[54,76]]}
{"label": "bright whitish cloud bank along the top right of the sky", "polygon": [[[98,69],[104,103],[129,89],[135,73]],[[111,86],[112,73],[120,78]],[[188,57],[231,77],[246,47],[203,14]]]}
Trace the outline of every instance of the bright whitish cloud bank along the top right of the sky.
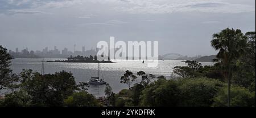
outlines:
{"label": "bright whitish cloud bank along the top right of the sky", "polygon": [[[133,0],[130,0],[133,1]],[[212,12],[212,13],[241,13],[255,12],[255,6],[243,5],[240,3],[221,1],[133,1],[127,3],[126,7],[115,8],[118,11],[129,12],[131,14],[171,14],[174,12]]]}

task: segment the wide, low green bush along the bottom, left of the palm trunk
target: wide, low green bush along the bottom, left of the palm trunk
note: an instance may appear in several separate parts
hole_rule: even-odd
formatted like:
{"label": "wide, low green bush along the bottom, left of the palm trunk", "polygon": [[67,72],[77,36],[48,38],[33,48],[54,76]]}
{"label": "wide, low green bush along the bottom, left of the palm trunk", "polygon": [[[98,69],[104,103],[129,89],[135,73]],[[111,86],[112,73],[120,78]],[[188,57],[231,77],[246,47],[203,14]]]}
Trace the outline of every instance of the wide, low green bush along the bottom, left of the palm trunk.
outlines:
{"label": "wide, low green bush along the bottom, left of the palm trunk", "polygon": [[141,106],[212,106],[224,83],[210,78],[160,79],[142,91]]}

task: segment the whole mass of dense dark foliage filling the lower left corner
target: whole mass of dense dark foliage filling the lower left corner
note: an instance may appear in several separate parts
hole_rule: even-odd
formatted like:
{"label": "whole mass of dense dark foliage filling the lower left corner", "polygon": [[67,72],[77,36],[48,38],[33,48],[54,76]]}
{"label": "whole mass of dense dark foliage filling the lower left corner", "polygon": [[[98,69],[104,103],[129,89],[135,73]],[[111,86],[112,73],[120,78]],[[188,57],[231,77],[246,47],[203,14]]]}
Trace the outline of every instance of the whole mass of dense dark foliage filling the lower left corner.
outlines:
{"label": "whole mass of dense dark foliage filling the lower left corner", "polygon": [[[70,72],[61,71],[41,75],[38,72],[32,72],[31,69],[23,69],[19,75],[19,82],[9,85],[12,92],[5,95],[2,106],[97,105],[93,95],[76,93],[76,91],[84,91],[82,88],[85,88],[85,85],[77,85]],[[88,104],[77,103],[77,101],[81,102],[81,99],[86,100]],[[92,103],[89,104],[89,102]]]}

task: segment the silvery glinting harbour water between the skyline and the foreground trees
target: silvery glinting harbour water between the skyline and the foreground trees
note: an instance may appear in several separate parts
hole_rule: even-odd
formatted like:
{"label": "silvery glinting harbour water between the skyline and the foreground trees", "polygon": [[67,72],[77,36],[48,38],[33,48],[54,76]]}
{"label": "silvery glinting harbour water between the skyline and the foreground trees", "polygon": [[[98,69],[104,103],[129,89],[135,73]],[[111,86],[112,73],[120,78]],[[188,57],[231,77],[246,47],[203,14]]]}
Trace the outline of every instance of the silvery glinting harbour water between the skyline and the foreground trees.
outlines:
{"label": "silvery glinting harbour water between the skyline and the foreground trees", "polygon": [[[52,59],[47,60],[65,60],[65,59]],[[185,65],[181,60],[159,60],[158,66],[155,68],[147,67],[145,61],[127,61],[127,60],[115,60],[115,63],[101,63],[100,64],[100,76],[104,77],[104,80],[112,86],[112,91],[118,93],[122,89],[127,89],[126,84],[120,83],[120,77],[126,70],[133,72],[144,71],[147,74],[153,74],[156,77],[163,75],[167,78],[170,77],[172,68],[177,65]],[[203,65],[212,65],[213,63],[202,62]],[[20,73],[22,69],[32,69],[33,71],[41,72],[42,59],[13,59],[11,63],[11,69],[14,73]],[[97,63],[60,63],[60,62],[44,62],[44,73],[55,73],[65,70],[73,73],[76,78],[76,82],[87,82],[90,77],[98,76],[98,64]],[[138,79],[138,81],[140,81]],[[90,85],[88,92],[96,97],[105,95],[105,85]],[[3,94],[3,93],[2,93]]]}

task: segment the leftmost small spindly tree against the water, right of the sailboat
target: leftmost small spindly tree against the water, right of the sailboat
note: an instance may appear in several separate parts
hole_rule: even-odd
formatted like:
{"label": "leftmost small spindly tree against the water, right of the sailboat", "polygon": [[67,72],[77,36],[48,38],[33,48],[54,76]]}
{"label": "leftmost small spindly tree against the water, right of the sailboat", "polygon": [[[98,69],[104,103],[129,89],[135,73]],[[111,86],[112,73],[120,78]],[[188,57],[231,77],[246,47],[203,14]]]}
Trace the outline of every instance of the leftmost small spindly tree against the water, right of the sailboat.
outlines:
{"label": "leftmost small spindly tree against the water, right of the sailboat", "polygon": [[131,89],[131,85],[136,80],[137,76],[133,75],[130,71],[125,71],[125,74],[120,78],[120,82],[127,84],[128,88]]}

